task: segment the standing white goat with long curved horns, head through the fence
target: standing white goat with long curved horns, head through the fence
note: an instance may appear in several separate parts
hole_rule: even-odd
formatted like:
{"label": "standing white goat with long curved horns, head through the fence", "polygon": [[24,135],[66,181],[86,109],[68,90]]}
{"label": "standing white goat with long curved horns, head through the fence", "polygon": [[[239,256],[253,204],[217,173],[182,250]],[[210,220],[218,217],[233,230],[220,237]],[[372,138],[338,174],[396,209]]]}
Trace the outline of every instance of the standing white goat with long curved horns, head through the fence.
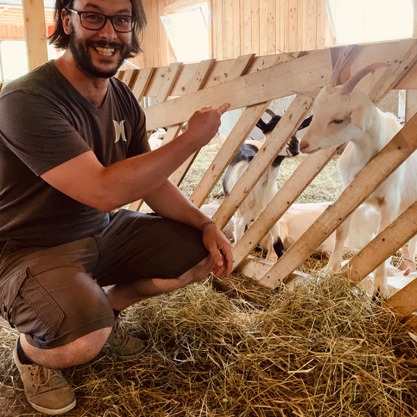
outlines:
{"label": "standing white goat with long curved horns, head through the fence", "polygon": [[[338,160],[338,171],[347,187],[368,162],[395,136],[402,126],[391,113],[382,113],[364,92],[354,87],[369,72],[386,66],[384,63],[368,65],[352,76],[341,88],[336,79],[341,65],[336,65],[329,83],[322,88],[313,104],[313,121],[300,142],[300,151],[313,154],[320,149],[348,142]],[[300,93],[307,95],[309,93]],[[385,229],[402,211],[417,199],[417,153],[412,154],[375,192],[366,203],[375,207],[381,215],[377,233]],[[341,268],[343,242],[347,238],[352,216],[336,231],[336,241],[327,270]],[[410,242],[414,261],[416,238]],[[374,275],[374,295],[388,295],[385,263]]]}

